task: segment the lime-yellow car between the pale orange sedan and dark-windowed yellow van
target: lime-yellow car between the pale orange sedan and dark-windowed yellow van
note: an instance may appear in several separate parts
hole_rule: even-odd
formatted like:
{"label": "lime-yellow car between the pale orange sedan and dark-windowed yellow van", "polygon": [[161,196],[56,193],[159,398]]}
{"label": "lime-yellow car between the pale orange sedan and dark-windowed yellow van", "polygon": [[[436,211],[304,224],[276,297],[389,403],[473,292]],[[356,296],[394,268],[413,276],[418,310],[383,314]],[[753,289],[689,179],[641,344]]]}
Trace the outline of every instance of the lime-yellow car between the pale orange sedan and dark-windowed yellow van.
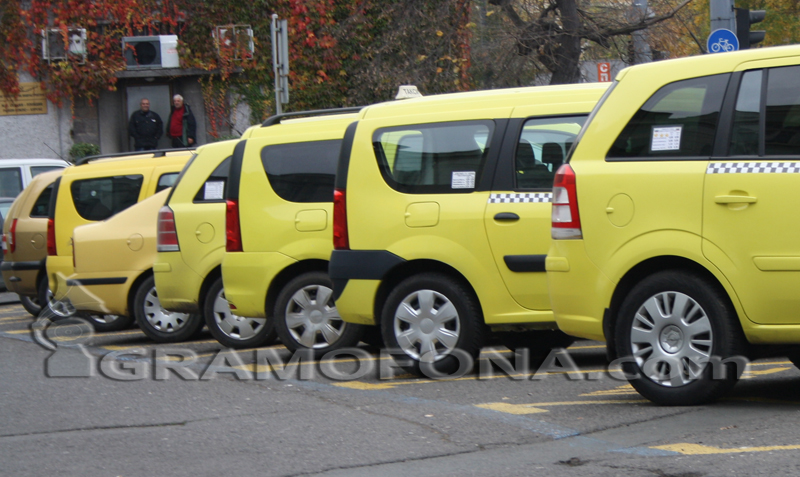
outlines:
{"label": "lime-yellow car between the pale orange sedan and dark-windowed yellow van", "polygon": [[[251,129],[242,138],[249,137]],[[225,188],[237,143],[223,141],[198,148],[159,211],[158,254],[153,264],[161,306],[188,313],[200,326],[205,316],[205,321],[215,323],[209,327],[214,336],[233,347],[275,338],[266,318],[231,313],[222,287]]]}

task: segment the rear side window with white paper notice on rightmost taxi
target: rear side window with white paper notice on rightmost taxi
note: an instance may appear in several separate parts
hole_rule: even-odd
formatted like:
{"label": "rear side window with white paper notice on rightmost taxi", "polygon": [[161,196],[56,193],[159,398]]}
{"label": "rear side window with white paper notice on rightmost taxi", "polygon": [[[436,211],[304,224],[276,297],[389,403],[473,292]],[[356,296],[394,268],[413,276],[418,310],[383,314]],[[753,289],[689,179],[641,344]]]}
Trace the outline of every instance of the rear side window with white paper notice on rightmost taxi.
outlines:
{"label": "rear side window with white paper notice on rightmost taxi", "polygon": [[607,158],[707,158],[729,77],[705,76],[662,87],[628,122]]}

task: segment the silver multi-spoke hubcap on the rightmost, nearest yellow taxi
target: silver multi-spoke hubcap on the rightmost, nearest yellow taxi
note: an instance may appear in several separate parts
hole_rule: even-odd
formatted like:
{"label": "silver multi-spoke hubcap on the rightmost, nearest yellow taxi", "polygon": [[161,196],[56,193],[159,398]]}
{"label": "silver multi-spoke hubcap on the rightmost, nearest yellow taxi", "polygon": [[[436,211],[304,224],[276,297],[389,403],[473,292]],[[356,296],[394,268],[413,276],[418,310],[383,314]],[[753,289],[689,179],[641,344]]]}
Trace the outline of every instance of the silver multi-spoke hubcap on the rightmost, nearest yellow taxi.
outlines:
{"label": "silver multi-spoke hubcap on the rightmost, nearest yellow taxi", "polygon": [[631,326],[631,351],[650,380],[668,387],[689,384],[711,357],[711,321],[688,295],[664,292],[642,304]]}

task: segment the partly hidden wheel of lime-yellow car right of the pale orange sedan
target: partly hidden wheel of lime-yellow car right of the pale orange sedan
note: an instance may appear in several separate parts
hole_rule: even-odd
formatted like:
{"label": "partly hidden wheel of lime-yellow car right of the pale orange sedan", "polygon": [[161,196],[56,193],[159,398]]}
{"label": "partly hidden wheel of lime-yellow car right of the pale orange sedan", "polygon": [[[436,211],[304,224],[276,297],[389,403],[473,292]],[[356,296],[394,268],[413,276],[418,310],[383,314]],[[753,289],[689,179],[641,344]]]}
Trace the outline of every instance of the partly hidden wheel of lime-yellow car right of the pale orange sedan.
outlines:
{"label": "partly hidden wheel of lime-yellow car right of the pale orange sedan", "polygon": [[272,344],[278,338],[273,320],[231,313],[221,277],[214,281],[206,294],[203,316],[211,336],[227,348],[258,348]]}

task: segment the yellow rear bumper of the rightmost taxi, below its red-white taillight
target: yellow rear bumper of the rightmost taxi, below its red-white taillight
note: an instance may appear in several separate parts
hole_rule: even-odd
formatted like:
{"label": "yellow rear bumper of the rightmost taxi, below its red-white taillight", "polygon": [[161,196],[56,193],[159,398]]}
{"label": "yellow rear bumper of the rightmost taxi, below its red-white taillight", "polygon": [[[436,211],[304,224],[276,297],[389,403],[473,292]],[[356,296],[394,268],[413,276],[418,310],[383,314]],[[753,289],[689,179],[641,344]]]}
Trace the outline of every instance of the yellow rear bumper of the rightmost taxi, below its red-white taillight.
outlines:
{"label": "yellow rear bumper of the rightmost taxi, below its red-white taillight", "polygon": [[553,240],[545,262],[550,304],[559,329],[605,341],[603,315],[615,284],[597,268],[582,240]]}

